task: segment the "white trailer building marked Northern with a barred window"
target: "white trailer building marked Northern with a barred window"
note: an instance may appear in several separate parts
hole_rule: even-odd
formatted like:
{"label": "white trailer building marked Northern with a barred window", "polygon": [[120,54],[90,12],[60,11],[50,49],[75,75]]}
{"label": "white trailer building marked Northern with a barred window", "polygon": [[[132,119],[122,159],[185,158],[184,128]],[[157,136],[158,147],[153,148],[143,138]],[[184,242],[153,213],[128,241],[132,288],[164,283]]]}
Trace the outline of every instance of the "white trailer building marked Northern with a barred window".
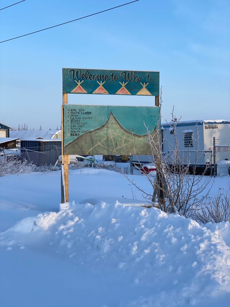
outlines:
{"label": "white trailer building marked Northern with a barred window", "polygon": [[[171,151],[173,150],[174,128],[173,122],[161,124],[162,130],[162,150],[170,159]],[[197,146],[198,132],[198,146]],[[206,119],[206,120],[191,120],[180,121],[176,124],[176,134],[179,143],[179,150],[182,154],[186,151],[190,152],[190,163],[195,161],[195,154],[192,154],[198,149],[201,154],[198,157],[197,163],[206,165],[212,163],[213,154],[213,137],[216,138],[216,163],[222,160],[229,159],[230,147],[230,119]]]}

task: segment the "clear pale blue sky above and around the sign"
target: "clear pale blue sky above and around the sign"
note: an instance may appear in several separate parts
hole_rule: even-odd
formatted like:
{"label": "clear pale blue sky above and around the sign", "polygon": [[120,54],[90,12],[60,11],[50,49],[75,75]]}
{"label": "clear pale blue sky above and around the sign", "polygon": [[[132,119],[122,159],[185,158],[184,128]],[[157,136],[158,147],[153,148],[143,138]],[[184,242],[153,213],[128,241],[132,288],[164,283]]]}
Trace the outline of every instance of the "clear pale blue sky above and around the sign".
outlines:
{"label": "clear pale blue sky above and around the sign", "polygon": [[[2,0],[1,7],[13,0]],[[26,0],[0,11],[0,40],[125,3]],[[128,1],[127,1],[128,2]],[[0,7],[0,8],[1,8]],[[0,44],[0,122],[60,126],[62,67],[160,72],[162,122],[230,118],[230,1],[140,0]],[[68,95],[69,103],[144,105],[154,97]]]}

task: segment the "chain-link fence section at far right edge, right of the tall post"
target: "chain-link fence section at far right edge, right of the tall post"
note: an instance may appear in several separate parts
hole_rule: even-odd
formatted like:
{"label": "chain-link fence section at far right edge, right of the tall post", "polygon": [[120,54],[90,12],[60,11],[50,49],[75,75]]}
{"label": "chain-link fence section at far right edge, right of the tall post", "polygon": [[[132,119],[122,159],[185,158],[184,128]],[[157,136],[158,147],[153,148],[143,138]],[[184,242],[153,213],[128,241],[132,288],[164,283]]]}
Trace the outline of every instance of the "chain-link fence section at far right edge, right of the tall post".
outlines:
{"label": "chain-link fence section at far right edge, right of the tall post", "polygon": [[215,173],[217,176],[230,175],[230,147],[215,146]]}

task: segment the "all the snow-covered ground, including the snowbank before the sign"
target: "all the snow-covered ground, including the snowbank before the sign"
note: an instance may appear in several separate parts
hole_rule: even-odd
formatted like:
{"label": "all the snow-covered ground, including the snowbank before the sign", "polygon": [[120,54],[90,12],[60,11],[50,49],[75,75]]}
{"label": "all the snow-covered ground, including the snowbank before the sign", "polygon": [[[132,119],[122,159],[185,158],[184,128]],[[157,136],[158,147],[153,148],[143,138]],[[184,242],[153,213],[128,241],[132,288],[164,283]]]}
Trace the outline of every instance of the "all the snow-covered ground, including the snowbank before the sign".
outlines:
{"label": "all the snow-covered ground, including the snowbank before the sign", "polygon": [[59,171],[0,178],[2,306],[229,306],[229,223],[136,207],[141,192],[105,169],[69,181],[59,208]]}

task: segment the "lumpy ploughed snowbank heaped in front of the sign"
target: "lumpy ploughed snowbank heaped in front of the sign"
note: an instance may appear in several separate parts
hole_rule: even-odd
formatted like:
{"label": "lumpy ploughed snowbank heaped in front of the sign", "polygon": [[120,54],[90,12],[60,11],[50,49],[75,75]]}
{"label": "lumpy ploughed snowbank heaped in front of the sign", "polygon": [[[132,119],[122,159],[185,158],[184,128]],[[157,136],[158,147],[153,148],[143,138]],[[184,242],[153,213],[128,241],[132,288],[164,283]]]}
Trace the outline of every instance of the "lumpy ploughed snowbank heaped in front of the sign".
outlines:
{"label": "lumpy ploughed snowbank heaped in front of the sign", "polygon": [[122,306],[199,305],[230,291],[230,250],[221,236],[155,208],[61,204],[59,212],[25,218],[3,232],[0,245],[39,246],[76,266],[151,286],[147,299]]}

